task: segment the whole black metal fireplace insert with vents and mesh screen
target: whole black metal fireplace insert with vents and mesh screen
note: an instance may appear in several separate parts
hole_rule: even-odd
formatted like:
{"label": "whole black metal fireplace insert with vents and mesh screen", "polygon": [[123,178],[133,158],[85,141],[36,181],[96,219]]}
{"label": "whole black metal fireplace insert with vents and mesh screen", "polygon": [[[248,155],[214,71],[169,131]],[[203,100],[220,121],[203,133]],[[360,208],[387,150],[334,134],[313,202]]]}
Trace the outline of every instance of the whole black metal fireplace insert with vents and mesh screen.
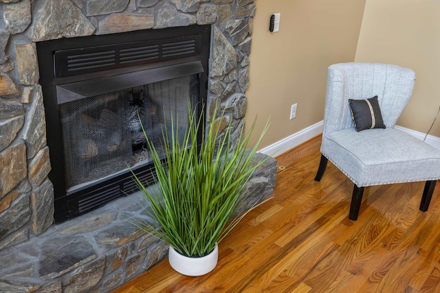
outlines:
{"label": "whole black metal fireplace insert with vents and mesh screen", "polygon": [[131,171],[152,183],[145,136],[160,150],[171,119],[177,133],[186,130],[188,104],[203,116],[210,26],[36,46],[56,222],[137,191]]}

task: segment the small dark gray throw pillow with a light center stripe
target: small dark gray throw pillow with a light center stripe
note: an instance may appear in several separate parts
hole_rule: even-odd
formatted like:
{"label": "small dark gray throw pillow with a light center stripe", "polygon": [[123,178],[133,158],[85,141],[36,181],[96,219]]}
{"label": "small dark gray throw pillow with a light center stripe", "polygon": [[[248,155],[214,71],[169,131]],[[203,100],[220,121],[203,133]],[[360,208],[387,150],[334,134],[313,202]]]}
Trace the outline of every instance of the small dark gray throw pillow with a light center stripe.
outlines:
{"label": "small dark gray throw pillow with a light center stripe", "polygon": [[349,106],[356,131],[385,128],[377,95],[369,99],[349,99]]}

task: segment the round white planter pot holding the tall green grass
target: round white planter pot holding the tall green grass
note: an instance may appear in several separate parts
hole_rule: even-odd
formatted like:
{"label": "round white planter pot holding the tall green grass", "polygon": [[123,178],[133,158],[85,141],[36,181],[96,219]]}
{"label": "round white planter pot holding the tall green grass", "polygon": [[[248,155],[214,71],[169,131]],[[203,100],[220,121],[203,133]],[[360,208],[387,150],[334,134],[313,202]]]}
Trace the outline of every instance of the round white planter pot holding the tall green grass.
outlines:
{"label": "round white planter pot holding the tall green grass", "polygon": [[180,274],[190,277],[197,277],[207,274],[214,270],[219,259],[219,246],[215,246],[212,253],[204,257],[186,257],[177,253],[174,248],[170,247],[168,251],[168,261],[170,266]]}

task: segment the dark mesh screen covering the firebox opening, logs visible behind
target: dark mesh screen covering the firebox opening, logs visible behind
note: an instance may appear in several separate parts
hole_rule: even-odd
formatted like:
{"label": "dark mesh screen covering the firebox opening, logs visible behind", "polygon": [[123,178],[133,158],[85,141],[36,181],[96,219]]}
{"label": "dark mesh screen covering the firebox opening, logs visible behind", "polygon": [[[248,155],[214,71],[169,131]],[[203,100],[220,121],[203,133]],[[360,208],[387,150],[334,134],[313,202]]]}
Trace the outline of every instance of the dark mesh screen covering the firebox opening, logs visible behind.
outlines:
{"label": "dark mesh screen covering the firebox opening, logs visible behind", "polygon": [[151,163],[141,122],[160,152],[164,126],[173,119],[177,133],[183,134],[188,102],[195,106],[198,99],[195,74],[61,104],[66,188]]}

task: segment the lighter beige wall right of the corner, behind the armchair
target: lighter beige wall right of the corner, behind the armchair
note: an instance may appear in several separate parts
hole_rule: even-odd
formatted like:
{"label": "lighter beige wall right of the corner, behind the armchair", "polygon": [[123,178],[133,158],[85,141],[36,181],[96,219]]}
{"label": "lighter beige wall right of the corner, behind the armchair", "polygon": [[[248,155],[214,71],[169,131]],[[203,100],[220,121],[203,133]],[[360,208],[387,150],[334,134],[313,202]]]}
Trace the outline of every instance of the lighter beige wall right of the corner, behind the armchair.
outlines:
{"label": "lighter beige wall right of the corner, behind the armchair", "polygon": [[367,0],[355,61],[413,69],[415,89],[397,125],[427,132],[440,106],[440,1]]}

